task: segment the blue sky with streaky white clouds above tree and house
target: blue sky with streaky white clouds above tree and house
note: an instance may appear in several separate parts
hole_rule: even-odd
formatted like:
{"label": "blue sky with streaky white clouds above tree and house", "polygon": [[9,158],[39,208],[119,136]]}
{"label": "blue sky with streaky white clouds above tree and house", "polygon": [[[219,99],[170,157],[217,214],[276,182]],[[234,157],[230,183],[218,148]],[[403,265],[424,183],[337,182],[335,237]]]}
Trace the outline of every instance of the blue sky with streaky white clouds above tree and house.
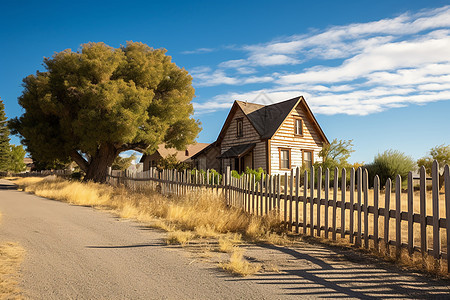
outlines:
{"label": "blue sky with streaky white clouds above tree and house", "polygon": [[[352,162],[414,159],[450,144],[449,1],[0,1],[0,97],[8,117],[42,60],[86,42],[166,48],[193,76],[199,142],[234,100],[303,95]],[[18,138],[13,137],[13,143]]]}

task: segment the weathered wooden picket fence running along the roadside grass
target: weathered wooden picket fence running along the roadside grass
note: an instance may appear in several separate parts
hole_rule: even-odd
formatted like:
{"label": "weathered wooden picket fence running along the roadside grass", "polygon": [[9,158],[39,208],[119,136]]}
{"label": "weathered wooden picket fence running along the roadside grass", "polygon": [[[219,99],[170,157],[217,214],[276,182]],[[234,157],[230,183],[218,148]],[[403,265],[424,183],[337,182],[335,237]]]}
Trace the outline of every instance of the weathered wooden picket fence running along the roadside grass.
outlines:
{"label": "weathered wooden picket fence running along the roadside grass", "polygon": [[[151,186],[166,195],[210,189],[222,194],[230,206],[280,218],[288,230],[302,229],[303,234],[325,238],[331,234],[332,240],[348,238],[350,244],[386,253],[394,250],[397,256],[406,249],[409,255],[418,252],[445,259],[450,270],[450,171],[448,165],[442,175],[439,170],[435,161],[431,178],[424,167],[419,177],[410,172],[406,192],[399,175],[394,191],[391,179],[382,185],[378,175],[371,182],[373,189],[369,188],[368,172],[362,168],[350,170],[349,182],[347,170],[337,168],[333,178],[328,169],[313,168],[301,175],[297,168],[283,175],[261,176],[258,182],[249,174],[231,177],[229,169],[222,175],[209,170],[151,169],[134,175],[110,171],[108,182],[131,188]],[[442,189],[439,176],[444,176]],[[431,180],[431,194],[427,180]]]}

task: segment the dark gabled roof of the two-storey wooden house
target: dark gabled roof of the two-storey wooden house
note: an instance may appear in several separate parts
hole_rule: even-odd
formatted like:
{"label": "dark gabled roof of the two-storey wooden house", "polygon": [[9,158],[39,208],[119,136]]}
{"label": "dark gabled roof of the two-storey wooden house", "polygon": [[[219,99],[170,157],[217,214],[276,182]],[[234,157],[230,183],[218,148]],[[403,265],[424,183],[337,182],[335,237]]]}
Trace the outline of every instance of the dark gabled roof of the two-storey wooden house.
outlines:
{"label": "dark gabled roof of the two-storey wooden house", "polygon": [[222,140],[226,129],[228,128],[231,120],[237,109],[242,110],[244,115],[248,118],[250,123],[253,125],[255,130],[260,135],[261,139],[270,139],[278,131],[280,126],[283,124],[284,120],[289,116],[289,114],[294,110],[297,105],[302,104],[305,108],[306,113],[310,117],[314,126],[316,127],[319,135],[322,137],[325,143],[329,144],[327,137],[325,136],[322,128],[320,128],[319,123],[311,112],[308,104],[306,103],[303,96],[292,98],[286,101],[274,103],[271,105],[260,105],[255,103],[248,103],[243,101],[235,101],[231,107],[230,113],[225,121],[225,124],[219,134],[217,141]]}

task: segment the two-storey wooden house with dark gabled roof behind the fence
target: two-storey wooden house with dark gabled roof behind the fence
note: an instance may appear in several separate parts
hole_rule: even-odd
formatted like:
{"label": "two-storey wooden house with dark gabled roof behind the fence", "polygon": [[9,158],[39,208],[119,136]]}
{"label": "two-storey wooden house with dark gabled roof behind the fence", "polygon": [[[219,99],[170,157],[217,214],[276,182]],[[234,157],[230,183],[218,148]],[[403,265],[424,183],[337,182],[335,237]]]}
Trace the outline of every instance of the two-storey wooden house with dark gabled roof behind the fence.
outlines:
{"label": "two-storey wooden house with dark gabled roof behind the fence", "polygon": [[324,144],[329,141],[302,96],[271,105],[235,101],[217,141],[193,159],[199,165],[204,158],[204,169],[279,174],[311,166]]}

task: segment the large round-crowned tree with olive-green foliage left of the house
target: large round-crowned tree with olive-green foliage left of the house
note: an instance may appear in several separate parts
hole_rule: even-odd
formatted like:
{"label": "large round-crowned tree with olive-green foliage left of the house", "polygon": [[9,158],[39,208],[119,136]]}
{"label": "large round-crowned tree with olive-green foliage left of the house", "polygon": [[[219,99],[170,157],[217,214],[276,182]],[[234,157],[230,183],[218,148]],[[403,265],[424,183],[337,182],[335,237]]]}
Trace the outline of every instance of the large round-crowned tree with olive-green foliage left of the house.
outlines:
{"label": "large round-crowned tree with olive-green foliage left of the house", "polygon": [[47,71],[24,79],[25,113],[10,122],[12,132],[34,159],[71,159],[96,182],[123,151],[148,153],[162,142],[182,149],[200,131],[194,88],[165,53],[142,43],[88,43],[45,58]]}

